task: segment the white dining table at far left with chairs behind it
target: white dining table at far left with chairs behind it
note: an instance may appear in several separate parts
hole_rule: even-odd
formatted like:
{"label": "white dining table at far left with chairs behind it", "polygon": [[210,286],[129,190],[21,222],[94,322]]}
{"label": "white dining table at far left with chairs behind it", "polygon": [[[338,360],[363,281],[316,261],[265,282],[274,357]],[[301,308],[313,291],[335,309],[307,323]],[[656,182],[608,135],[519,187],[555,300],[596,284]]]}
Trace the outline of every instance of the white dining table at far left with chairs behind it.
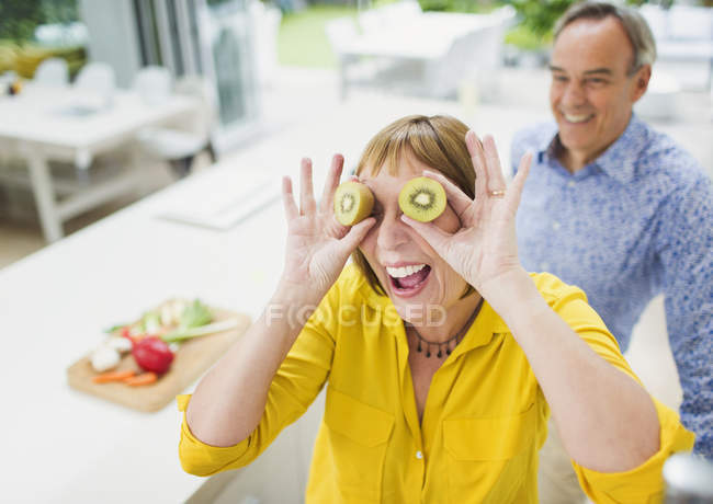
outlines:
{"label": "white dining table at far left with chairs behind it", "polygon": [[26,161],[45,239],[58,240],[63,221],[134,190],[142,180],[132,149],[132,167],[123,176],[57,202],[48,161],[68,161],[86,171],[98,154],[128,146],[140,128],[178,121],[196,106],[196,101],[178,95],[149,105],[126,91],[117,91],[106,103],[87,91],[36,84],[1,99],[0,148]]}

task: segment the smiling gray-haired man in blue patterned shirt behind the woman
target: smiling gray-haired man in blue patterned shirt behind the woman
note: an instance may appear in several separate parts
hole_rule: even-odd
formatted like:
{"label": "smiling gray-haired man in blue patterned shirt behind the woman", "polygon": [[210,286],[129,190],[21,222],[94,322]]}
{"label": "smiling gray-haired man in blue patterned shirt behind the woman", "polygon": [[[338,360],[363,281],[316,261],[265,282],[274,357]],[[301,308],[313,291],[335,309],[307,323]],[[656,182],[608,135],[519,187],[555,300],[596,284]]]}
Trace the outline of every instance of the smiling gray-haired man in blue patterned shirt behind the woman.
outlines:
{"label": "smiling gray-haired man in blue patterned shirt behind the woman", "polygon": [[[527,268],[581,287],[622,351],[646,305],[665,295],[681,419],[697,434],[695,450],[713,458],[713,191],[688,152],[632,113],[655,58],[634,10],[582,2],[558,21],[550,66],[555,124],[513,140],[514,162],[534,152],[518,211],[519,253]],[[554,431],[541,454],[543,491]],[[542,492],[541,501],[558,502]]]}

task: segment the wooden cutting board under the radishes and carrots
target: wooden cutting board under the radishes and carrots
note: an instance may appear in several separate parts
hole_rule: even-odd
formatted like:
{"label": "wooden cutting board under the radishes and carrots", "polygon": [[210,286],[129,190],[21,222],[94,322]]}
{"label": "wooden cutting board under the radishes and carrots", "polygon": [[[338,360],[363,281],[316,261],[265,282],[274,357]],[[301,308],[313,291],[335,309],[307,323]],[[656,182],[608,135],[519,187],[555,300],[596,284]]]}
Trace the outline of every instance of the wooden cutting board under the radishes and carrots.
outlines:
{"label": "wooden cutting board under the radishes and carrots", "polygon": [[[176,352],[171,368],[155,383],[142,387],[129,387],[125,383],[94,383],[92,377],[98,373],[91,367],[90,352],[67,369],[69,386],[138,411],[151,412],[162,409],[218,360],[250,327],[250,317],[245,313],[215,308],[212,308],[211,311],[214,322],[237,319],[237,327],[182,343]],[[126,369],[139,371],[131,353],[123,356],[115,370]]]}

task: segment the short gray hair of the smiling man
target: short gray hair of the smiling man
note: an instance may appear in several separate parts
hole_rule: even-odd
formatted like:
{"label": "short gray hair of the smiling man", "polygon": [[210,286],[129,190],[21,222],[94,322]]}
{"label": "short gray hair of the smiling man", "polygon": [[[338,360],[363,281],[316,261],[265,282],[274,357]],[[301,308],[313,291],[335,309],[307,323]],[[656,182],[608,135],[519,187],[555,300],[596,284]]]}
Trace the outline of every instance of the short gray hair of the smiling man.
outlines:
{"label": "short gray hair of the smiling man", "polygon": [[554,28],[555,41],[562,31],[577,20],[619,19],[634,49],[634,61],[629,69],[632,75],[644,65],[654,65],[656,60],[656,42],[648,23],[637,10],[609,2],[584,1],[573,3],[557,20]]}

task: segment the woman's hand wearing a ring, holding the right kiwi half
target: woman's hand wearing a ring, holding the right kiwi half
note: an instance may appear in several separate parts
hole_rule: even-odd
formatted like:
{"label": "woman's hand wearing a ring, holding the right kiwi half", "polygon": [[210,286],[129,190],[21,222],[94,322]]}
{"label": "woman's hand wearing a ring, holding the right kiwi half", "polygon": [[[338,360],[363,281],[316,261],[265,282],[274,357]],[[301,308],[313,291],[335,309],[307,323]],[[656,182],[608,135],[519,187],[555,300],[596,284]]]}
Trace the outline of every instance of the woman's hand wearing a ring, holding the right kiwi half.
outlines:
{"label": "woman's hand wearing a ring, holding the right kiwi half", "polygon": [[520,161],[518,174],[506,186],[493,137],[480,144],[473,131],[465,142],[475,168],[475,199],[440,173],[425,172],[445,188],[449,203],[461,219],[461,229],[451,234],[432,222],[401,219],[419,232],[453,270],[486,299],[487,287],[497,285],[510,272],[523,271],[518,259],[514,216],[530,171],[531,154]]}

